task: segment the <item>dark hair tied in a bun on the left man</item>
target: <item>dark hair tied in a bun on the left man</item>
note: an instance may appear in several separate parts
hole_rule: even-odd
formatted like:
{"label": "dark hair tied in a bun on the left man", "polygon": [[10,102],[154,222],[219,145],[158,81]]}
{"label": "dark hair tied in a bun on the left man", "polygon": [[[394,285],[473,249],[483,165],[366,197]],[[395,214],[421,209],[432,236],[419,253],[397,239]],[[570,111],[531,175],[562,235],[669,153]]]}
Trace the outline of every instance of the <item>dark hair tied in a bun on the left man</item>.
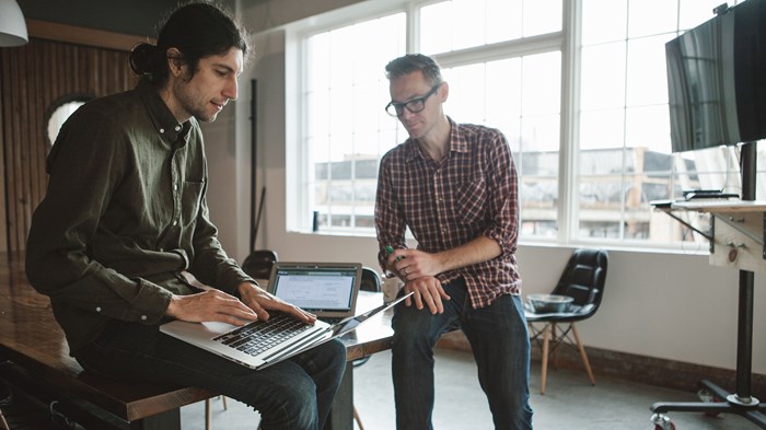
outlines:
{"label": "dark hair tied in a bun on the left man", "polygon": [[179,7],[160,30],[156,45],[137,45],[130,53],[130,68],[136,74],[149,75],[155,84],[167,80],[167,49],[181,51],[178,60],[189,66],[190,75],[197,72],[199,60],[211,55],[223,55],[239,48],[248,57],[249,35],[224,10],[204,2]]}

